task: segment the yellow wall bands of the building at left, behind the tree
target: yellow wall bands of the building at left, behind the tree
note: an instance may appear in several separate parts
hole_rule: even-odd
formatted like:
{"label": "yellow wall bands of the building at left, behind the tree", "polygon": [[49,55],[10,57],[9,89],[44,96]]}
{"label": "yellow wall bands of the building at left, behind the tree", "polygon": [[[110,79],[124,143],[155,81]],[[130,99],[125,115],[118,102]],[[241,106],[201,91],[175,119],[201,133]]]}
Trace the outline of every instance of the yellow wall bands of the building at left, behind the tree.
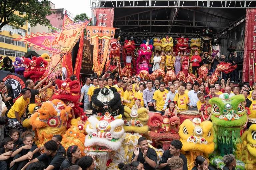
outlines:
{"label": "yellow wall bands of the building at left, behind the tree", "polygon": [[[18,16],[20,16],[22,18],[25,16],[25,15],[20,15],[19,12],[17,12],[17,11],[14,11],[14,14],[18,15]],[[26,24],[23,25],[23,27],[20,27],[20,29],[28,31],[28,22],[26,21]],[[14,35],[10,35],[9,31],[0,32],[0,35],[6,36],[6,37],[11,37],[11,38],[14,38],[14,39],[20,37],[19,34],[15,34],[15,33],[14,33]],[[25,53],[27,52],[27,47],[21,47],[21,46],[12,45],[12,44],[8,44],[8,43],[4,43],[4,42],[0,42],[0,47],[7,48],[7,49],[12,49],[12,50],[17,50],[17,51],[22,51],[22,52],[25,52]],[[9,56],[9,55],[5,55],[5,56]],[[9,57],[13,61],[15,61],[15,57],[11,57],[11,56],[9,56]]]}

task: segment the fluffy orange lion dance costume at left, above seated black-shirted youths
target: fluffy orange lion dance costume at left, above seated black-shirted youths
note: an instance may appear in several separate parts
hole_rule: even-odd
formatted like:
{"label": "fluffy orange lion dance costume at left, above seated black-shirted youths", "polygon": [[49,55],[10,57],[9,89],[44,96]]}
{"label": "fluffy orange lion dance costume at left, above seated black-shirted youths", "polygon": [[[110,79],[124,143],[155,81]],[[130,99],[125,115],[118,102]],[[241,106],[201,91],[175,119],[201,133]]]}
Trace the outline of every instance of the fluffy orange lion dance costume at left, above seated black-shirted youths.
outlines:
{"label": "fluffy orange lion dance costume at left, above seated black-shirted youths", "polygon": [[43,103],[30,118],[30,124],[35,130],[36,143],[43,145],[51,140],[54,134],[64,134],[68,118],[71,118],[70,111],[71,107],[58,99]]}

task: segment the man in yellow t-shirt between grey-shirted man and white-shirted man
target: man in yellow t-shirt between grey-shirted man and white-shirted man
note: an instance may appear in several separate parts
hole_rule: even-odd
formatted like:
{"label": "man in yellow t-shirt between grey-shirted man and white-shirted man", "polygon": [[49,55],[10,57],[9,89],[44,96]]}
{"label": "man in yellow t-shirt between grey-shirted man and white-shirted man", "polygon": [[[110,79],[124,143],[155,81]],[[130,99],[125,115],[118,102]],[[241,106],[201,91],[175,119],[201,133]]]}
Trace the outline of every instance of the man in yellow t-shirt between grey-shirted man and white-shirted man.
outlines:
{"label": "man in yellow t-shirt between grey-shirted man and white-shirted man", "polygon": [[156,112],[164,115],[164,103],[167,96],[168,90],[165,89],[165,83],[161,82],[159,89],[155,91],[153,95],[153,105]]}

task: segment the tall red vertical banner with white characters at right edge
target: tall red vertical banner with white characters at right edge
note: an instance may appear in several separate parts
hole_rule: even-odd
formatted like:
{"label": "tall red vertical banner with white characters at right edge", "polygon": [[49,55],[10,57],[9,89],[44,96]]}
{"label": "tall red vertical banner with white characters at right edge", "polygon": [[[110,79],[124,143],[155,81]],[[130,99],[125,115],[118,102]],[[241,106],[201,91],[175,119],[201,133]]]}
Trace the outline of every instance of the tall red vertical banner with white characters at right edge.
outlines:
{"label": "tall red vertical banner with white characters at right edge", "polygon": [[245,42],[243,60],[243,82],[248,81],[252,86],[255,76],[256,50],[256,9],[246,9]]}

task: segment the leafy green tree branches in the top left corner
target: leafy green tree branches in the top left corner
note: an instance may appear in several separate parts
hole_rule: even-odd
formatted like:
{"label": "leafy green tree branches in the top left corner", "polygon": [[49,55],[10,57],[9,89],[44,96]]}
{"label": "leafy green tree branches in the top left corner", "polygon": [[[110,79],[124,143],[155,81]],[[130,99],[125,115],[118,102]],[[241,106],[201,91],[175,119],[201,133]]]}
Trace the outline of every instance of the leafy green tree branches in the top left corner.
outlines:
{"label": "leafy green tree branches in the top left corner", "polygon": [[[50,26],[50,21],[46,16],[51,15],[52,12],[47,4],[47,0],[1,0],[0,29],[6,24],[19,28],[26,21],[32,27],[36,26],[36,24]],[[24,14],[25,17],[21,18],[15,15],[14,11],[17,11],[20,15]]]}

